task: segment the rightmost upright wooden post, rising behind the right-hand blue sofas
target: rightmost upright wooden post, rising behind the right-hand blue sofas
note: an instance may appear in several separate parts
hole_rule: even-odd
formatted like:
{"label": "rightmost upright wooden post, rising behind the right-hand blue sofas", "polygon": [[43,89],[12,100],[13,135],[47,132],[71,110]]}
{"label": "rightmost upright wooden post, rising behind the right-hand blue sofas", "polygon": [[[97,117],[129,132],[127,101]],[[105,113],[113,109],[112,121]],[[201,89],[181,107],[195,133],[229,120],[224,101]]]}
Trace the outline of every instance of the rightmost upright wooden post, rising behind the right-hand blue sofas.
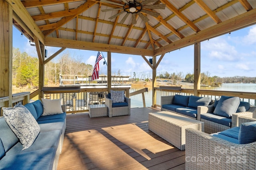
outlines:
{"label": "rightmost upright wooden post, rising behind the right-hand blue sofas", "polygon": [[201,43],[194,43],[194,96],[198,96],[201,79]]}

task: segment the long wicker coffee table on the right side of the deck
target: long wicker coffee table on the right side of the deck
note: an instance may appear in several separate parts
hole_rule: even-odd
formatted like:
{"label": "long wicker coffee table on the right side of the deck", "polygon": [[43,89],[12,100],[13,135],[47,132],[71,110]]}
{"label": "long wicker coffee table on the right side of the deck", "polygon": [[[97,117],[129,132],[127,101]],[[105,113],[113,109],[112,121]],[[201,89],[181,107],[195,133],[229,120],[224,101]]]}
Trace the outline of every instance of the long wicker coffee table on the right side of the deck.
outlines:
{"label": "long wicker coffee table on the right side of the deck", "polygon": [[185,129],[204,132],[204,122],[190,119],[170,111],[148,113],[149,130],[156,133],[180,150],[185,150]]}

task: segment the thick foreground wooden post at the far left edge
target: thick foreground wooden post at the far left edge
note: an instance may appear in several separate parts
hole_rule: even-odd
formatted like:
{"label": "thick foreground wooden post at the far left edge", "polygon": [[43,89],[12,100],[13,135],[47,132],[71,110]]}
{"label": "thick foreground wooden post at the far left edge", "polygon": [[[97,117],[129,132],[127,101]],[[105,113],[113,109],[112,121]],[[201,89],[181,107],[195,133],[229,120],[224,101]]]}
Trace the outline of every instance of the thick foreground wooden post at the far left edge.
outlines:
{"label": "thick foreground wooden post at the far left edge", "polygon": [[0,97],[12,106],[12,7],[0,0]]}

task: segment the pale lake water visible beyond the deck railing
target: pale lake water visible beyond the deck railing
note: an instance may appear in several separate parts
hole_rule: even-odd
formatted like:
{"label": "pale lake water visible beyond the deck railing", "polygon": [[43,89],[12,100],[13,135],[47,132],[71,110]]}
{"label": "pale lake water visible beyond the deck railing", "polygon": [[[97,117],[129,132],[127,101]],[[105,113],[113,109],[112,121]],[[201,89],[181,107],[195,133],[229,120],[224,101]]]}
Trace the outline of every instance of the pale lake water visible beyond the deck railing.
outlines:
{"label": "pale lake water visible beyond the deck railing", "polygon": [[[144,87],[142,87],[144,88]],[[140,90],[142,88],[131,88],[130,92]],[[224,83],[218,87],[201,87],[204,90],[222,90],[222,91],[235,91],[235,92],[256,92],[256,84],[253,83]],[[148,92],[144,93],[146,106],[152,106],[152,90],[148,89]],[[142,94],[131,96],[131,107],[143,107]]]}

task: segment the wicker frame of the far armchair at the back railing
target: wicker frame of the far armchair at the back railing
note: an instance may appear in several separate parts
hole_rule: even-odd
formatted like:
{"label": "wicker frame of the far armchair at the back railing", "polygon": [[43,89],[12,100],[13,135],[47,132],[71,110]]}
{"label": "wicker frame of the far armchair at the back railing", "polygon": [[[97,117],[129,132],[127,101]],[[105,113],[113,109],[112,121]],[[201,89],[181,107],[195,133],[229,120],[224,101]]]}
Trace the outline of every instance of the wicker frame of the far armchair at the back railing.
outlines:
{"label": "wicker frame of the far armchair at the back railing", "polygon": [[108,106],[108,116],[120,116],[131,114],[131,99],[124,97],[124,102],[128,103],[128,106],[112,107],[112,100],[108,98],[108,94],[105,95],[105,104]]}

